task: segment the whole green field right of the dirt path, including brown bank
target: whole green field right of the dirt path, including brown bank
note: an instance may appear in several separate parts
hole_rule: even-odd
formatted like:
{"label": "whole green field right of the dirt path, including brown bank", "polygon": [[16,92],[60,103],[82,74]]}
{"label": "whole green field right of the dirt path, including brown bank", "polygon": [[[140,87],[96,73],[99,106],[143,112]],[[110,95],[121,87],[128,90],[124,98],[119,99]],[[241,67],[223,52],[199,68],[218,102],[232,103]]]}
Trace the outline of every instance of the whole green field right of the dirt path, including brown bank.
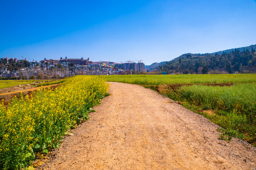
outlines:
{"label": "whole green field right of the dirt path, including brown bank", "polygon": [[103,77],[156,90],[222,127],[222,139],[238,137],[256,146],[256,74]]}

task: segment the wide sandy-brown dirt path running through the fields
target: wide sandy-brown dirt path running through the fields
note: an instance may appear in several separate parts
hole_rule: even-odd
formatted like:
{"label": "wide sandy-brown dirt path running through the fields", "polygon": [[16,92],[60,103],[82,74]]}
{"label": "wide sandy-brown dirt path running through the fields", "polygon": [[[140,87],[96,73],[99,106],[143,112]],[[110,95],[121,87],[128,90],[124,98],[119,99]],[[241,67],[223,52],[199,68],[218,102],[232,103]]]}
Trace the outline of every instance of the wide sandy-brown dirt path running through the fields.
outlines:
{"label": "wide sandy-brown dirt path running through the fields", "polygon": [[112,95],[72,130],[45,170],[254,170],[256,150],[218,140],[217,125],[139,85]]}

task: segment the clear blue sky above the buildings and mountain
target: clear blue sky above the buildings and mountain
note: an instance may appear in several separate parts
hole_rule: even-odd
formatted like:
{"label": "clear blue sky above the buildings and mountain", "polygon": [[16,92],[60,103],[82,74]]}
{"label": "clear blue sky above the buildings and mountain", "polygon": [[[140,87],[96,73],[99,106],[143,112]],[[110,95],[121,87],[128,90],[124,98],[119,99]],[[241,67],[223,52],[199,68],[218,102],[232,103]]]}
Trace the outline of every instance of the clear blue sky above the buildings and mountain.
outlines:
{"label": "clear blue sky above the buildings and mountain", "polygon": [[255,0],[0,0],[0,58],[150,65],[251,44]]}

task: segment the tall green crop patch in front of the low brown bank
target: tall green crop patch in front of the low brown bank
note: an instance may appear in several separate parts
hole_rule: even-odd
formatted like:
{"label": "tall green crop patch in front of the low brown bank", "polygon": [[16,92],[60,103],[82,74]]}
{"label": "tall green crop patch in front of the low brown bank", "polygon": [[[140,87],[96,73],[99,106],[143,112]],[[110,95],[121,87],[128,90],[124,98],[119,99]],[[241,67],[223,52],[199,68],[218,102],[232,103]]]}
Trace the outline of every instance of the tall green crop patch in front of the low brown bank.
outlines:
{"label": "tall green crop patch in front of the low brown bank", "polygon": [[191,85],[180,88],[180,98],[203,104],[205,109],[236,110],[254,118],[256,111],[256,84],[232,86]]}

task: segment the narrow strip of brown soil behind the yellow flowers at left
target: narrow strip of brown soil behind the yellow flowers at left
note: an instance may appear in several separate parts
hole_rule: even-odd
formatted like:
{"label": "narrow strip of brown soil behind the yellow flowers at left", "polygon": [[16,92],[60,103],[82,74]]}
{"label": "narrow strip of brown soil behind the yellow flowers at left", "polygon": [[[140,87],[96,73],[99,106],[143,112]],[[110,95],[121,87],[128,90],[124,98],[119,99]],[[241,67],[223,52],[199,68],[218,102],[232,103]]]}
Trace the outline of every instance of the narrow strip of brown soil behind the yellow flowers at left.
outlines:
{"label": "narrow strip of brown soil behind the yellow flowers at left", "polygon": [[0,93],[0,100],[4,99],[4,103],[8,104],[10,102],[10,100],[20,92],[22,92],[22,95],[25,96],[27,94],[30,94],[32,91],[36,91],[40,88],[51,87],[51,88],[55,89],[58,85],[45,85],[45,86],[40,86],[40,87],[27,88],[27,89],[23,89],[23,90],[21,90],[21,88],[19,88],[18,86],[8,87],[8,88],[5,88],[5,90],[8,89],[8,91],[9,91],[11,89],[12,92]]}

